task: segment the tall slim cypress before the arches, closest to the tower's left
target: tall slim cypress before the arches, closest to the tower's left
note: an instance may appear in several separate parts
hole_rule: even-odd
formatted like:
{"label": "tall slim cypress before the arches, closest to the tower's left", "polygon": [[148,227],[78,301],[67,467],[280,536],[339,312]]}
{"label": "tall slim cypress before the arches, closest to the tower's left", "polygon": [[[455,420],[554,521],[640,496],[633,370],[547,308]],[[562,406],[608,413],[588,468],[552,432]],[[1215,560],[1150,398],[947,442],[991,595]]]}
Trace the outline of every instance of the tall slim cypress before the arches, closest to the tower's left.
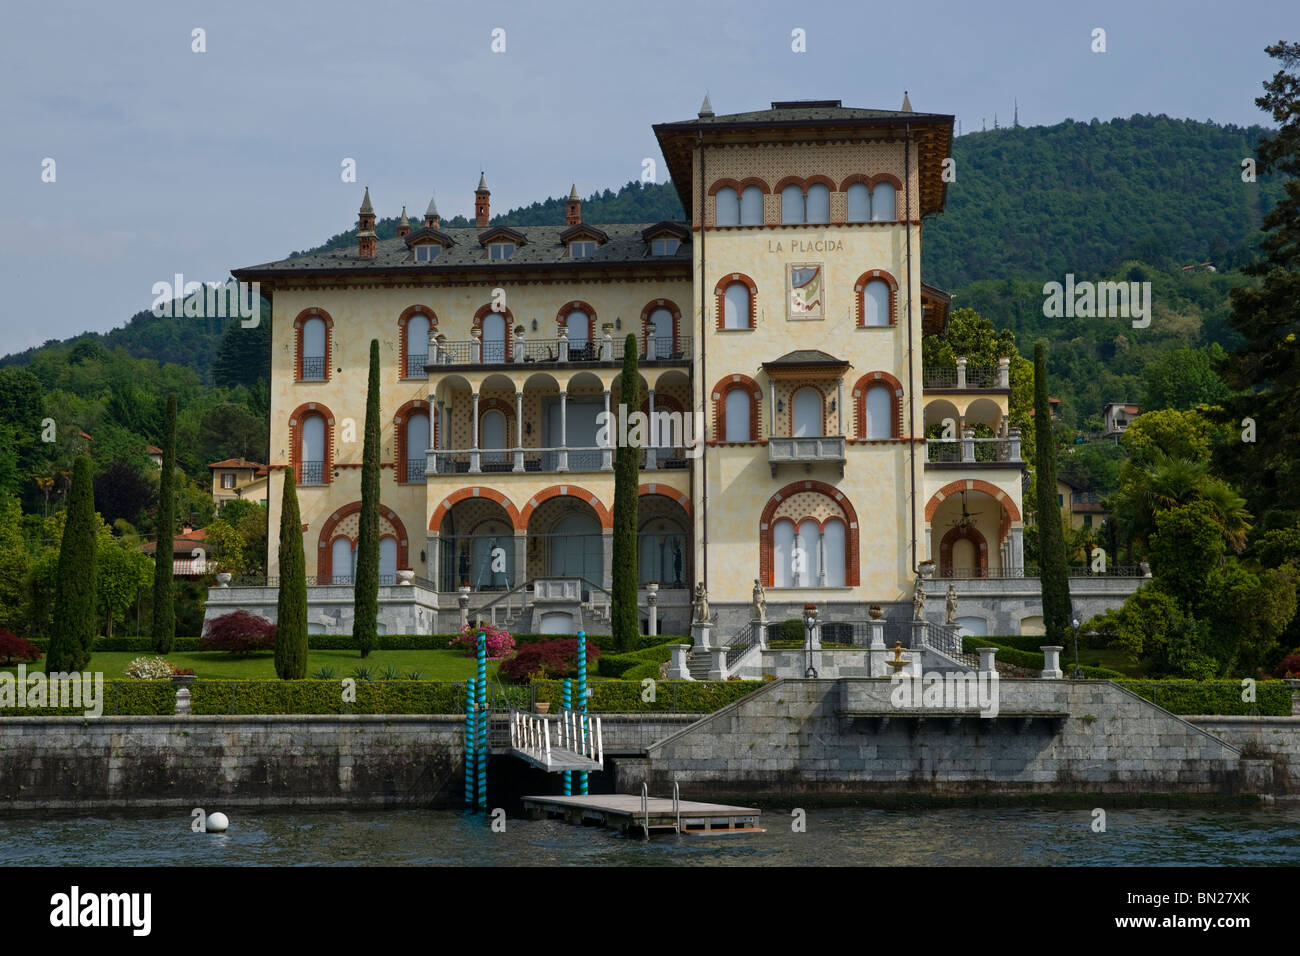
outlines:
{"label": "tall slim cypress before the arches, closest to the tower's left", "polygon": [[[641,405],[641,375],[637,371],[637,337],[628,333],[623,345],[623,377],[620,401],[628,414]],[[611,423],[612,429],[612,423]],[[647,428],[647,434],[649,434]],[[615,433],[611,431],[611,434]],[[614,570],[611,624],[614,645],[624,650],[640,632],[637,609],[637,480],[641,449],[630,442],[619,444],[614,453]]]}

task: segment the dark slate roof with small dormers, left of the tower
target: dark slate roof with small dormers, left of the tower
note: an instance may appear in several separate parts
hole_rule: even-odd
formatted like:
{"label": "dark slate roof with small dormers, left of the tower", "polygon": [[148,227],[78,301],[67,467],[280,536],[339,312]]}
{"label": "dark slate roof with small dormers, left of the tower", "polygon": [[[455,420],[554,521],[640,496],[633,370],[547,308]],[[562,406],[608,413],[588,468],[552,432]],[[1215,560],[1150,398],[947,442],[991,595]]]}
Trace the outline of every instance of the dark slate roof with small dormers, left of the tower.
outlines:
{"label": "dark slate roof with small dormers, left of the tower", "polygon": [[[672,271],[689,268],[692,256],[690,246],[682,243],[676,254],[671,256],[655,256],[650,254],[650,243],[642,238],[641,233],[649,226],[658,224],[647,222],[618,222],[602,225],[601,230],[608,235],[608,241],[597,246],[595,254],[582,259],[571,259],[568,246],[562,241],[562,235],[572,229],[567,225],[554,226],[511,226],[515,232],[523,233],[526,242],[515,248],[515,254],[504,260],[491,261],[488,259],[488,250],[480,245],[484,233],[497,230],[489,229],[441,229],[442,234],[452,241],[452,246],[443,248],[442,254],[433,261],[413,261],[412,250],[407,247],[407,239],[380,239],[376,243],[373,259],[361,259],[355,242],[342,248],[312,252],[292,259],[280,259],[260,265],[248,265],[234,269],[238,280],[261,280],[289,277],[300,274],[320,273],[377,273],[393,271],[410,271],[412,273],[438,273],[454,272],[467,268],[482,269],[484,272],[510,272],[512,269],[526,269],[537,267],[571,267],[590,268],[603,264],[627,265],[662,265]],[[685,224],[680,224],[686,229]],[[689,232],[688,232],[689,235]]]}

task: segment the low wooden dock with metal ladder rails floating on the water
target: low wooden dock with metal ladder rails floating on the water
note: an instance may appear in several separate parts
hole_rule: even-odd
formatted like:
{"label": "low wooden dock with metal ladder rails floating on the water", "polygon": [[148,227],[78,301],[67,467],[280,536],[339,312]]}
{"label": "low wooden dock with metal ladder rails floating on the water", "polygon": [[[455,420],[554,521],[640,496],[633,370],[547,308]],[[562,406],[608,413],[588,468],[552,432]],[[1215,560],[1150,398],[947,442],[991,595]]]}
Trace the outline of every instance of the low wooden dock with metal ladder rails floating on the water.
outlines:
{"label": "low wooden dock with metal ladder rails floating on the water", "polygon": [[593,793],[588,796],[525,796],[524,809],[533,817],[559,817],[584,826],[598,823],[623,832],[645,836],[680,832],[686,836],[760,834],[760,810],[749,806],[702,804],[672,797],[644,797],[632,793]]}

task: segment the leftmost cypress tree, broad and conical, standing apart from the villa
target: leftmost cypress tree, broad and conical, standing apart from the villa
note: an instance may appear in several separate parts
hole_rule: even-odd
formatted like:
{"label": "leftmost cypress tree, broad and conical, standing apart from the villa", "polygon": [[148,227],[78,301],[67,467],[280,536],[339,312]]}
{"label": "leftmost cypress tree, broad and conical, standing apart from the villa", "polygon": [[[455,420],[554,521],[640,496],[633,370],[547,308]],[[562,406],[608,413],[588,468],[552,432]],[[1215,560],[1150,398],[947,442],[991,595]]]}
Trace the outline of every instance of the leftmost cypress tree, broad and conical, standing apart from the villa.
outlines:
{"label": "leftmost cypress tree, broad and conical, standing apart from the villa", "polygon": [[73,464],[68,492],[68,520],[58,548],[55,620],[46,657],[47,671],[79,671],[90,663],[95,644],[95,538],[99,520],[90,458]]}

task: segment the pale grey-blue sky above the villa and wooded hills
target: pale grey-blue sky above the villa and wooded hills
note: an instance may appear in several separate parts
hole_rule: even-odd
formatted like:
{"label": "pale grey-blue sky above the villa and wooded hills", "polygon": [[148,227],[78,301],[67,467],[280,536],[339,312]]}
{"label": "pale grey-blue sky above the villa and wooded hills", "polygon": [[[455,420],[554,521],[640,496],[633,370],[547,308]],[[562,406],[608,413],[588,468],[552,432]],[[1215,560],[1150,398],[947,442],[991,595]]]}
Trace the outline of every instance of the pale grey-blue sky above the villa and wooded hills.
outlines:
{"label": "pale grey-blue sky above the villa and wooded hills", "polygon": [[706,91],[732,113],[897,109],[907,90],[967,133],[1017,101],[1026,126],[1271,125],[1264,47],[1297,34],[1295,0],[10,5],[0,355],[120,326],[176,273],[220,281],[316,246],[355,225],[367,185],[380,217],[415,219],[434,193],[472,216],[480,169],[494,212],[616,190],[646,157],[663,182],[651,124],[694,117]]}

